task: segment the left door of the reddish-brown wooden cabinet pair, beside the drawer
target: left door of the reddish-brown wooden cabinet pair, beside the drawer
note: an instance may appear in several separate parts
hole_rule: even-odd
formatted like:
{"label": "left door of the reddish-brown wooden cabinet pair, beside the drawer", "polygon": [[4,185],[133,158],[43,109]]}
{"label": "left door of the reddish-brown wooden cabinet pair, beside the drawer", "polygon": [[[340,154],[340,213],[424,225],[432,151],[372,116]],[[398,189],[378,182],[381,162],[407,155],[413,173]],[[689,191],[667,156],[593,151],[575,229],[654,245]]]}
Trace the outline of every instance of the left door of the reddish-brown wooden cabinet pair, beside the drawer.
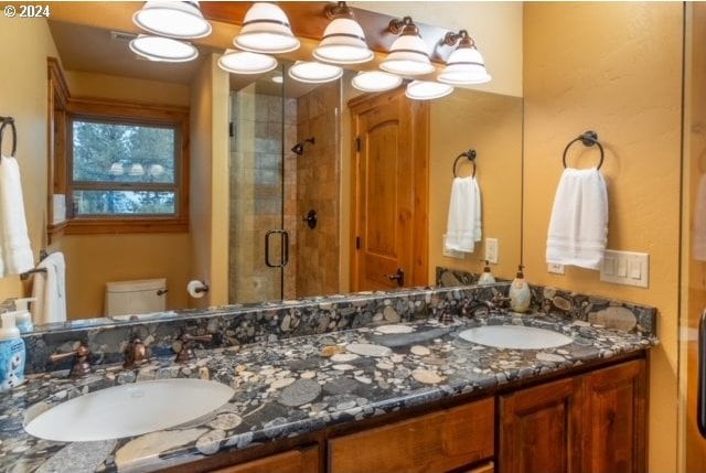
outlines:
{"label": "left door of the reddish-brown wooden cabinet pair, beside the drawer", "polygon": [[578,473],[580,380],[561,379],[502,396],[500,416],[499,471]]}

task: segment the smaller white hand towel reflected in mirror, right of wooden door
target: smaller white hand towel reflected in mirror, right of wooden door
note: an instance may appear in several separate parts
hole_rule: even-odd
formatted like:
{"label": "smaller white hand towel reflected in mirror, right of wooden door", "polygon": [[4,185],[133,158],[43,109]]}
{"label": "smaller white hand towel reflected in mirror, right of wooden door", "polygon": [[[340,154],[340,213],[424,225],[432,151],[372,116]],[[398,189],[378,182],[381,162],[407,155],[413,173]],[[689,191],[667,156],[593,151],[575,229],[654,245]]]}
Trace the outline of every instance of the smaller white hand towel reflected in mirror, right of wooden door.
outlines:
{"label": "smaller white hand towel reflected in mirror, right of wooden door", "polygon": [[473,252],[481,240],[481,192],[475,178],[454,178],[451,186],[445,248]]}

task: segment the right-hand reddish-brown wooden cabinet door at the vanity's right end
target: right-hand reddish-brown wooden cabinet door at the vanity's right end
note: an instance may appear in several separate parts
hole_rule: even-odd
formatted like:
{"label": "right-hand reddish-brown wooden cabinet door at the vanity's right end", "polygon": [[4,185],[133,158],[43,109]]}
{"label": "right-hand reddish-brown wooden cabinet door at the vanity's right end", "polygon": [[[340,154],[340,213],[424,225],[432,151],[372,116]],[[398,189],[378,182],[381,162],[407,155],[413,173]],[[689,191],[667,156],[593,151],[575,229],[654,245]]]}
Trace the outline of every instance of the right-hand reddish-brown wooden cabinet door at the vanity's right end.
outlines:
{"label": "right-hand reddish-brown wooden cabinet door at the vanity's right end", "polygon": [[584,472],[644,472],[644,361],[587,375],[584,396]]}

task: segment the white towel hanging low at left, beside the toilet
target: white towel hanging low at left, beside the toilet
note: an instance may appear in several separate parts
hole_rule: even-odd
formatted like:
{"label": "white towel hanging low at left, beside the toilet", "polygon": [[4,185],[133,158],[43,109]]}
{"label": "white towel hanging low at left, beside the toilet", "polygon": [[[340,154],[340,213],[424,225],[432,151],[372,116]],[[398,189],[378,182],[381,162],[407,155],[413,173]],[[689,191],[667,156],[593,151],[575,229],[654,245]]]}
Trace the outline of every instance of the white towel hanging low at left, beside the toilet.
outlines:
{"label": "white towel hanging low at left, beside the toilet", "polygon": [[66,321],[66,261],[61,251],[44,258],[38,268],[46,272],[34,273],[32,297],[32,320],[35,324]]}

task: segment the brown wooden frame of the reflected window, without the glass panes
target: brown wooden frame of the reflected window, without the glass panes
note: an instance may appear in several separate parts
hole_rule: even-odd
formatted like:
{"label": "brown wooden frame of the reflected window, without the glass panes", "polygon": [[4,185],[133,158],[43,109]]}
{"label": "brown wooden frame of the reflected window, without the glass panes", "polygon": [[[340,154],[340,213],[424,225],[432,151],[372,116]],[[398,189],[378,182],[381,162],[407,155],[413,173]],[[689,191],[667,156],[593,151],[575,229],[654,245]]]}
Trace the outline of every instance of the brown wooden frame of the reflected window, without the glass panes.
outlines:
{"label": "brown wooden frame of the reflected window, without the glass panes", "polygon": [[[174,130],[174,183],[118,183],[106,186],[73,180],[73,123],[74,121],[97,121],[106,123],[128,123],[171,128]],[[107,99],[69,98],[66,106],[65,127],[65,175],[66,217],[65,233],[179,233],[189,232],[189,108],[146,105]],[[78,184],[78,185],[76,185]],[[148,189],[149,187],[149,189]],[[163,214],[117,214],[74,215],[74,191],[174,191],[174,215]]]}

